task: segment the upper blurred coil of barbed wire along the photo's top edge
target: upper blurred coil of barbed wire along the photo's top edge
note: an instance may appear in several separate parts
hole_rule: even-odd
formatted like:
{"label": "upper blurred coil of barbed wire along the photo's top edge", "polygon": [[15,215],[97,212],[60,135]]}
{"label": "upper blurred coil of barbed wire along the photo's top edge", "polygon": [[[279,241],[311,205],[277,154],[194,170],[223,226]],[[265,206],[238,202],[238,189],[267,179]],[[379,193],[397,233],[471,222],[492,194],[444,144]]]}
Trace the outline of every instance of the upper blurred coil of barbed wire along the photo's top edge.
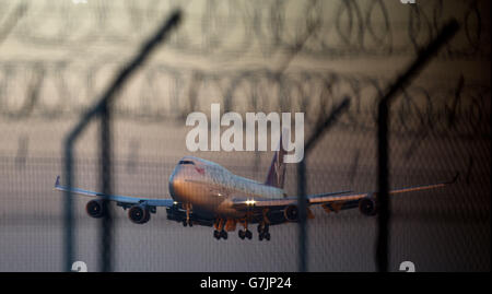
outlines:
{"label": "upper blurred coil of barbed wire along the photo's top edge", "polygon": [[[251,51],[262,56],[289,52],[314,27],[301,52],[305,57],[406,56],[417,52],[449,16],[455,16],[464,24],[461,33],[440,57],[490,57],[489,9],[477,0],[427,0],[419,5],[396,0],[128,0],[81,5],[69,0],[39,0],[28,2],[28,15],[11,38],[40,48],[134,44],[177,4],[188,10],[189,16],[168,46],[184,55],[224,59]],[[0,3],[0,20],[12,5]]]}

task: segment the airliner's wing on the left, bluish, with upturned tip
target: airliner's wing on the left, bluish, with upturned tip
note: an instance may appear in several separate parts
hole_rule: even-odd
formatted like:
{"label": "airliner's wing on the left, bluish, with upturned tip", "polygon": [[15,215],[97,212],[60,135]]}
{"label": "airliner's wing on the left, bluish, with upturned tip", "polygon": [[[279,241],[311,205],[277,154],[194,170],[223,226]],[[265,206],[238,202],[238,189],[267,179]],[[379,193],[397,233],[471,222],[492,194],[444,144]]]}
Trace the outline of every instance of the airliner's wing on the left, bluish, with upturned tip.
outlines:
{"label": "airliner's wing on the left, bluish, with upturned tip", "polygon": [[174,200],[172,199],[149,199],[149,198],[140,198],[140,197],[131,197],[131,196],[119,196],[119,195],[104,195],[101,192],[90,191],[90,190],[83,190],[80,188],[68,188],[67,186],[60,185],[60,176],[57,177],[57,180],[55,183],[55,189],[59,191],[68,191],[70,190],[73,193],[89,196],[89,197],[99,197],[99,198],[106,198],[109,201],[115,201],[118,204],[139,204],[144,203],[149,207],[166,207],[171,208],[174,204]]}

